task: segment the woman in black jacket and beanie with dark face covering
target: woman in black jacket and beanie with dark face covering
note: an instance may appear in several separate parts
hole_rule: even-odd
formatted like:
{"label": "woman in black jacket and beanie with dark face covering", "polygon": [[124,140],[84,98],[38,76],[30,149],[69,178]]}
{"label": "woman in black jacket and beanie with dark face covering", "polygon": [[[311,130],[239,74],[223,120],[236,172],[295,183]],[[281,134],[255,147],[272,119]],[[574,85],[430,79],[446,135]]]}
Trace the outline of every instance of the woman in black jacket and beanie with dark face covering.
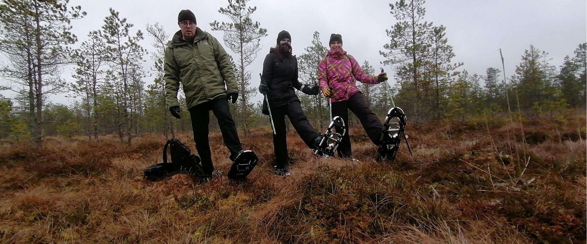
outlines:
{"label": "woman in black jacket and beanie with dark face covering", "polygon": [[[316,149],[320,136],[303,114],[294,88],[308,95],[318,95],[319,87],[318,85],[308,87],[298,81],[298,60],[292,55],[291,35],[285,30],[279,32],[277,45],[271,47],[269,54],[265,56],[261,78],[259,92],[267,95],[275,129],[273,135],[275,174],[284,176],[289,171],[285,116],[288,116],[296,132],[309,148]],[[268,114],[265,104],[266,102],[264,102],[264,114]]]}

